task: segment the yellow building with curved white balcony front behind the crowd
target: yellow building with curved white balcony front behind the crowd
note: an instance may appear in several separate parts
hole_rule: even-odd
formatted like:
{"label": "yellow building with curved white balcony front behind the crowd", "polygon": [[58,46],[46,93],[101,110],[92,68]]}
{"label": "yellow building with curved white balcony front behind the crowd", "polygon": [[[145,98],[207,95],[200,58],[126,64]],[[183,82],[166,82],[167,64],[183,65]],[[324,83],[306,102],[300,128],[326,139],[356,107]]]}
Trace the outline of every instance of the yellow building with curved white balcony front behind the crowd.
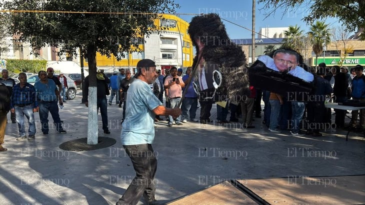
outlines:
{"label": "yellow building with curved white balcony front behind the crowd", "polygon": [[[96,53],[96,66],[105,71],[116,69],[130,69],[135,72],[137,62],[143,58],[149,58],[155,61],[157,68],[163,69],[175,66],[185,68],[192,65],[193,49],[190,36],[187,33],[189,23],[181,18],[171,15],[162,14],[163,19],[155,19],[156,26],[168,27],[160,34],[152,32],[148,37],[144,36],[144,41],[139,44],[143,52],[125,53],[125,57],[119,61],[114,55],[110,58],[100,53]],[[88,64],[84,60],[84,67]]]}

